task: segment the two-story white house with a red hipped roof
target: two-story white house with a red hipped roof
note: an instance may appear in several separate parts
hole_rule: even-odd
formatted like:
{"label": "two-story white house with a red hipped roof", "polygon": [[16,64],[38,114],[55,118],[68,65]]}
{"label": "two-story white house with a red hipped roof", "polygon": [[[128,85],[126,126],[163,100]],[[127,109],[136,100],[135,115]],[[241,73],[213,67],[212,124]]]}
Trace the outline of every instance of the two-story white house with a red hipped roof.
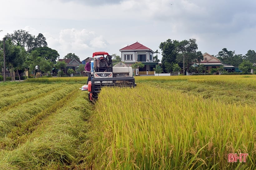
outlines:
{"label": "two-story white house with a red hipped roof", "polygon": [[153,62],[154,51],[150,48],[136,42],[131,45],[127,45],[119,50],[121,52],[121,61],[131,66],[135,62],[142,62],[144,68],[139,68],[139,75],[154,74],[153,68],[157,65],[157,62]]}

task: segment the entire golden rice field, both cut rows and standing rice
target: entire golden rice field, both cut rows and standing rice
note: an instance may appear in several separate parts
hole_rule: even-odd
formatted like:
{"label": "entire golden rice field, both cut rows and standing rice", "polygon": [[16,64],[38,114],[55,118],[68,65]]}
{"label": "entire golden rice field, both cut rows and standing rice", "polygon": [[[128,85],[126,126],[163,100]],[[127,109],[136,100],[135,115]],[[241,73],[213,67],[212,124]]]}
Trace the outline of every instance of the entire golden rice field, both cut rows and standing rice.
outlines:
{"label": "entire golden rice field, both cut rows and standing rice", "polygon": [[94,104],[84,77],[0,83],[0,169],[255,169],[256,76],[135,82]]}

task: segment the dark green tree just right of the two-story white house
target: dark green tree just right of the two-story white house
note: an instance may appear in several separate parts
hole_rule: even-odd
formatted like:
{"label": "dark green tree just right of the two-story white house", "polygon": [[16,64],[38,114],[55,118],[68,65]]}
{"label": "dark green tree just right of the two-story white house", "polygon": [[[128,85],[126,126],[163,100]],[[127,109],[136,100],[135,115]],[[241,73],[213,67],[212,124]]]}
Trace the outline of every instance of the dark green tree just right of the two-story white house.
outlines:
{"label": "dark green tree just right of the two-story white house", "polygon": [[179,41],[167,39],[165,42],[161,42],[159,48],[162,51],[162,68],[163,70],[171,71],[172,64],[176,63],[177,46]]}

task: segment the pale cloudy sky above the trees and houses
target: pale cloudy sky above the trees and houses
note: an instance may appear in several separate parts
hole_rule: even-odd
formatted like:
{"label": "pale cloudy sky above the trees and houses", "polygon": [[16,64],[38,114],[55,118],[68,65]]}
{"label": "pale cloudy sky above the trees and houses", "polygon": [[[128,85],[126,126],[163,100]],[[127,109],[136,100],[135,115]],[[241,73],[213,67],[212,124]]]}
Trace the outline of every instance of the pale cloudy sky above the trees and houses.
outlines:
{"label": "pale cloudy sky above the trees and houses", "polygon": [[167,39],[190,38],[212,55],[256,50],[255,0],[1,0],[0,7],[0,39],[14,30],[42,33],[60,58],[120,55],[135,42],[160,51]]}

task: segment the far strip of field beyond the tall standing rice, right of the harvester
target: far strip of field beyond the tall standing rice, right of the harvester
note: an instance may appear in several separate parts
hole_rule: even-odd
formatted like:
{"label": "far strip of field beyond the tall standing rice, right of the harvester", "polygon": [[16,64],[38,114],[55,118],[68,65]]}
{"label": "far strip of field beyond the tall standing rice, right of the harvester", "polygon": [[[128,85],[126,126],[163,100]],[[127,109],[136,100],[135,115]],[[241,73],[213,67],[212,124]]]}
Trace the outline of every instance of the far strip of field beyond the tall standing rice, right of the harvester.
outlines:
{"label": "far strip of field beyond the tall standing rice, right of the harvester", "polygon": [[256,105],[255,75],[139,76],[135,79],[137,83],[201,95],[205,99]]}

